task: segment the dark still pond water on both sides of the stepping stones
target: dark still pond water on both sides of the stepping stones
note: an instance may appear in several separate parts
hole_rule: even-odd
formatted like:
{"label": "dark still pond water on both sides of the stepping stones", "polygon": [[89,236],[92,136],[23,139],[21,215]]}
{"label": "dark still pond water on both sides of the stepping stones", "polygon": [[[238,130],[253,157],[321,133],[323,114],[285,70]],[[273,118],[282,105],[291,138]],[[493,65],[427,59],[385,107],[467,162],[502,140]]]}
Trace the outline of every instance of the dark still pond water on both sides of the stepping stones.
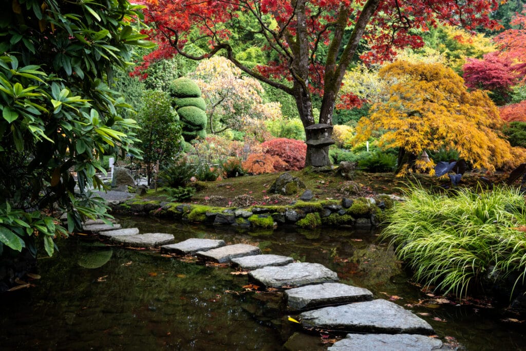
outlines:
{"label": "dark still pond water on both sides of the stepping stones", "polygon": [[[119,223],[171,233],[176,241],[222,238],[321,263],[341,282],[419,313],[442,340],[467,350],[526,350],[521,323],[505,320],[510,316],[497,308],[429,304],[432,298],[408,282],[392,250],[370,230],[237,232],[141,217],[120,217]],[[231,268],[106,246],[93,237],[58,245],[54,257],[39,259],[42,279],[33,280],[35,287],[2,296],[0,349],[279,350],[299,331],[288,322],[280,293],[245,293],[247,277],[230,274]],[[426,303],[415,306],[419,300]],[[290,349],[327,348],[319,335],[300,332],[294,340]]]}

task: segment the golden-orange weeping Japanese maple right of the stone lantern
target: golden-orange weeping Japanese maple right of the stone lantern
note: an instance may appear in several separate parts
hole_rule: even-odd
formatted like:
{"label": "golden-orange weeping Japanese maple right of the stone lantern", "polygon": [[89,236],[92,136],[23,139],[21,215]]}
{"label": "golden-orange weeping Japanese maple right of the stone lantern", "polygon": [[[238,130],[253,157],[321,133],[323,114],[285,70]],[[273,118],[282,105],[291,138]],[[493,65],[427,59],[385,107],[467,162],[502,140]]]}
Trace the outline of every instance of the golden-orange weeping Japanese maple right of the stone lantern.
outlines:
{"label": "golden-orange weeping Japanese maple right of the stone lantern", "polygon": [[[440,148],[456,149],[474,167],[489,171],[520,162],[514,158],[520,153],[512,153],[497,130],[502,124],[497,107],[485,92],[468,92],[451,68],[397,61],[379,74],[391,82],[390,97],[373,105],[370,118],[360,119],[357,141],[372,131],[385,132],[380,146],[398,147],[399,162]],[[417,166],[431,168],[433,162],[419,160]]]}

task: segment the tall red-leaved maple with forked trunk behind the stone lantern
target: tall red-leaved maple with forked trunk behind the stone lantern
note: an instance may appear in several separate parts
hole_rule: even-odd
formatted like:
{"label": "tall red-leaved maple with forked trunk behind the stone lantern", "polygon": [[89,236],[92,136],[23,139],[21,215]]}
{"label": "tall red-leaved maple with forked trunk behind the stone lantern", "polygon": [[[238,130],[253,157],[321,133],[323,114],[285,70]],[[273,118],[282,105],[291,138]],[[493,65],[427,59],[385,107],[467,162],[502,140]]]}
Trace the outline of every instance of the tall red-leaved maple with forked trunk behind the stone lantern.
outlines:
{"label": "tall red-leaved maple with forked trunk behind the stone lantern", "polygon": [[[369,47],[361,55],[363,61],[390,59],[394,48],[423,45],[411,28],[425,31],[439,22],[467,28],[498,27],[488,14],[499,4],[498,0],[144,2],[148,5],[145,21],[154,26],[149,34],[159,45],[145,57],[145,65],[175,53],[199,60],[222,52],[245,73],[293,96],[305,127],[315,123],[312,94],[322,97],[319,122],[331,124],[343,75],[360,42]],[[246,18],[248,26],[241,21]],[[255,45],[271,51],[272,60],[251,68],[236,59],[234,48],[246,45],[247,38],[257,38]],[[185,44],[199,42],[206,43],[207,53],[191,55],[185,51]],[[309,146],[307,153],[310,151]]]}

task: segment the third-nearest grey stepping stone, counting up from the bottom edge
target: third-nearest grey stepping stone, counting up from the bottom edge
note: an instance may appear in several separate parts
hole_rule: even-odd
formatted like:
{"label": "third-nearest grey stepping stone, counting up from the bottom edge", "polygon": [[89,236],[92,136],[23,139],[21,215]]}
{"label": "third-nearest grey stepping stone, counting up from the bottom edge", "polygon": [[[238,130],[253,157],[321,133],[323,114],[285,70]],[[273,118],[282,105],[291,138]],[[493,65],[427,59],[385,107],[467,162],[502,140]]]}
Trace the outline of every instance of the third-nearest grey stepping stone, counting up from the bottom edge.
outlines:
{"label": "third-nearest grey stepping stone, counting up from the bottom edge", "polygon": [[301,310],[327,305],[370,301],[372,293],[364,288],[341,283],[307,285],[285,291],[287,305],[292,310]]}

